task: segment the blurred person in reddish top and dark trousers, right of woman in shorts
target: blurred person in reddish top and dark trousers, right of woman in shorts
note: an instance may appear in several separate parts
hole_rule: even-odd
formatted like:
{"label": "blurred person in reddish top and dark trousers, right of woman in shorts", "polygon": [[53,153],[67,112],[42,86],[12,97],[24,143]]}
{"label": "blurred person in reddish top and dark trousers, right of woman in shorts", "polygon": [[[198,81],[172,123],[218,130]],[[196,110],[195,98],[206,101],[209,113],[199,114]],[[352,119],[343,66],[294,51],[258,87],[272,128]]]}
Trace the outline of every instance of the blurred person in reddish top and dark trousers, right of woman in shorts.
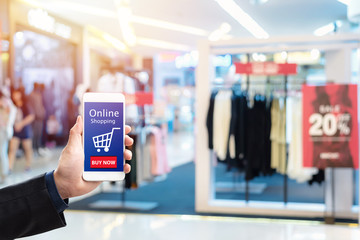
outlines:
{"label": "blurred person in reddish top and dark trousers, right of woman in shorts", "polygon": [[33,147],[35,153],[39,156],[44,155],[44,151],[41,148],[41,137],[43,133],[43,126],[45,120],[45,107],[42,97],[42,85],[35,82],[32,92],[29,94],[28,99],[31,104],[32,109],[34,110],[35,119],[32,122],[33,128]]}

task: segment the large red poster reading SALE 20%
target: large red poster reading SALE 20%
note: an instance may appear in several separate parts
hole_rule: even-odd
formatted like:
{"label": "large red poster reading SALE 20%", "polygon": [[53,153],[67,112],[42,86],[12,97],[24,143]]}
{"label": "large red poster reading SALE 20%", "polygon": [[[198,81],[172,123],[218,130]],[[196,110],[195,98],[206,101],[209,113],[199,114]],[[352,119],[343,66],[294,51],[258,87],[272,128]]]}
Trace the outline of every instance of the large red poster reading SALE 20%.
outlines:
{"label": "large red poster reading SALE 20%", "polygon": [[359,167],[357,85],[303,86],[304,167]]}

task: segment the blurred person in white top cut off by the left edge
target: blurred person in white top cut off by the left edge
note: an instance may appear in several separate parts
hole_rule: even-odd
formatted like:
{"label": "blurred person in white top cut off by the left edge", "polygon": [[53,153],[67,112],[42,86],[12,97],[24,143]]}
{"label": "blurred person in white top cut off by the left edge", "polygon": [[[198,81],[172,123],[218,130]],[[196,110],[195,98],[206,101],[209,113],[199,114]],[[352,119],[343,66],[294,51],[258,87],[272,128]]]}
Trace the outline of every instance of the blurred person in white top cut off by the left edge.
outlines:
{"label": "blurred person in white top cut off by the left edge", "polygon": [[13,135],[16,107],[6,89],[0,91],[0,183],[9,173],[8,146]]}

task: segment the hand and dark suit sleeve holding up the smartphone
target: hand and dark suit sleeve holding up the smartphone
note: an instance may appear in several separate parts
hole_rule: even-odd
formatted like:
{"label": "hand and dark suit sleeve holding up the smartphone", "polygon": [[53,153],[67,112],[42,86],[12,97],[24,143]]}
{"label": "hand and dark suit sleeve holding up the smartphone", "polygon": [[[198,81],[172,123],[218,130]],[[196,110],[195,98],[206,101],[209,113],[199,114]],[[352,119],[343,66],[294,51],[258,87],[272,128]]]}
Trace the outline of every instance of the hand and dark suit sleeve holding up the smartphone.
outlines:
{"label": "hand and dark suit sleeve holding up the smartphone", "polygon": [[[125,126],[125,134],[131,128]],[[82,178],[84,148],[82,144],[83,122],[79,116],[70,130],[68,143],[61,153],[55,171],[0,189],[0,239],[31,236],[66,226],[64,210],[71,197],[91,192],[101,182],[87,182]],[[133,140],[125,136],[125,145]],[[131,160],[130,150],[124,151],[124,159]],[[131,167],[125,164],[124,172]]]}

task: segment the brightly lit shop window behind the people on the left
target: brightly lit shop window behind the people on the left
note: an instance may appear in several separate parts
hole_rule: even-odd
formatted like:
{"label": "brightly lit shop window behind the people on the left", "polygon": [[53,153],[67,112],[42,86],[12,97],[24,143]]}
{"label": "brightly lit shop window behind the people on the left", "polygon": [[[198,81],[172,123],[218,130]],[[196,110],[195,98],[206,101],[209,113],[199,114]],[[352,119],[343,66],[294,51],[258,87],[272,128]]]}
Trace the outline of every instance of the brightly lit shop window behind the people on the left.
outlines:
{"label": "brightly lit shop window behind the people on the left", "polygon": [[[59,139],[68,133],[69,119],[76,113],[69,111],[68,100],[73,97],[75,84],[75,45],[32,31],[18,31],[13,36],[15,47],[14,87],[23,86],[26,94],[34,83],[43,85],[47,115],[55,115],[61,123]],[[71,102],[71,101],[70,101]],[[75,108],[72,108],[75,109]],[[61,140],[59,140],[61,141]]]}

